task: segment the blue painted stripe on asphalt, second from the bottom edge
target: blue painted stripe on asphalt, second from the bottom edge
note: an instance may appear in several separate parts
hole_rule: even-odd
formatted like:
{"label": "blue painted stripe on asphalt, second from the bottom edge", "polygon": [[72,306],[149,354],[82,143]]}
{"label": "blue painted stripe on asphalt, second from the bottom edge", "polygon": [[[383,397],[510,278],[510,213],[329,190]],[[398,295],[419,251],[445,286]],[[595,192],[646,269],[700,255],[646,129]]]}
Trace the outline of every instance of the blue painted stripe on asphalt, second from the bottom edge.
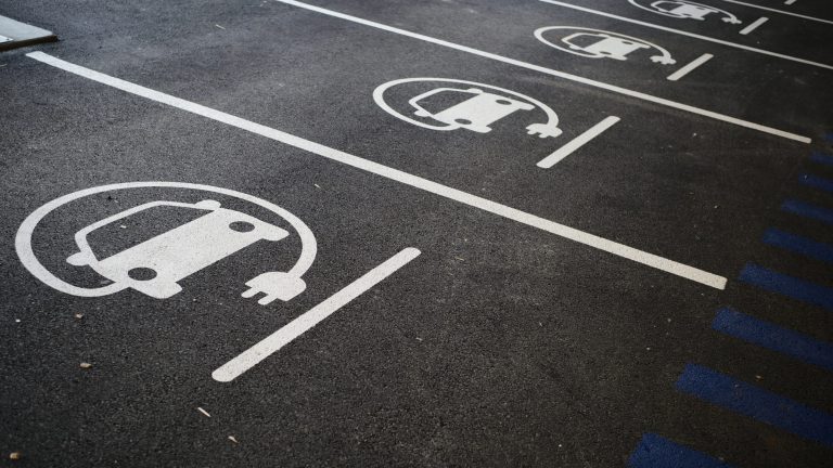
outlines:
{"label": "blue painted stripe on asphalt, second from the bottom edge", "polygon": [[708,367],[687,364],[677,390],[833,447],[833,416]]}

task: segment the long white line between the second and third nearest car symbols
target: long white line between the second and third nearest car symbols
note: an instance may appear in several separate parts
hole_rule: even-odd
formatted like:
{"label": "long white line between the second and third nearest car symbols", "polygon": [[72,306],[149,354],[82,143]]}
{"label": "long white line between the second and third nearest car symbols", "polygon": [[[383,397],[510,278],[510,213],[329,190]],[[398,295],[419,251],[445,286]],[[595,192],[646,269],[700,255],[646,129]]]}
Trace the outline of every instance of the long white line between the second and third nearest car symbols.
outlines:
{"label": "long white line between the second and third nearest car symbols", "polygon": [[[490,53],[490,52],[485,52],[485,51],[482,51],[482,50],[478,50],[478,49],[474,49],[474,48],[470,48],[470,47],[466,47],[466,46],[460,46],[460,44],[457,44],[457,43],[453,43],[453,42],[449,42],[449,41],[446,41],[446,40],[443,40],[443,39],[436,39],[436,38],[433,38],[431,36],[424,36],[424,35],[421,35],[421,34],[411,32],[409,30],[399,29],[399,28],[396,28],[396,27],[393,27],[393,26],[383,25],[381,23],[375,23],[375,22],[368,21],[368,20],[362,20],[360,17],[350,16],[350,15],[347,15],[347,14],[344,14],[344,13],[334,12],[332,10],[326,10],[326,9],[313,6],[313,5],[302,3],[302,2],[298,2],[298,1],[295,1],[295,0],[275,0],[275,1],[281,2],[281,3],[291,4],[291,5],[298,6],[298,8],[303,8],[303,9],[306,9],[306,10],[309,10],[309,11],[313,11],[313,12],[317,12],[317,13],[325,14],[328,16],[333,16],[333,17],[337,17],[337,18],[341,18],[341,20],[346,20],[346,21],[349,21],[349,22],[358,23],[358,24],[361,24],[361,25],[364,25],[364,26],[370,26],[370,27],[374,27],[374,28],[377,28],[377,29],[386,30],[388,32],[394,32],[394,34],[407,36],[407,37],[410,37],[410,38],[413,38],[413,39],[423,40],[423,41],[431,42],[431,43],[434,43],[434,44],[437,44],[437,46],[443,46],[443,47],[447,47],[447,48],[450,48],[450,49],[459,50],[459,51],[462,51],[462,52],[471,53],[471,54],[474,54],[474,55],[479,55],[482,57],[490,58],[490,60],[494,60],[494,61],[503,62],[503,63],[507,63],[507,64],[510,64],[510,65],[520,66],[522,68],[526,68],[526,69],[530,69],[530,70],[535,70],[535,72],[540,72],[540,73],[543,73],[543,74],[547,74],[547,75],[551,75],[551,76],[554,76],[554,77],[559,77],[559,78],[563,78],[563,79],[566,79],[566,80],[580,82],[582,84],[588,84],[588,86],[591,86],[593,88],[600,88],[600,89],[603,89],[603,90],[606,90],[606,91],[611,91],[611,92],[614,92],[614,93],[617,93],[617,94],[624,94],[624,95],[627,95],[627,96],[630,96],[630,98],[636,98],[636,99],[639,99],[639,100],[642,100],[642,101],[652,102],[654,104],[659,104],[659,105],[663,105],[663,106],[666,106],[666,107],[676,108],[678,110],[683,110],[683,112],[688,112],[688,113],[691,113],[691,114],[696,114],[696,115],[700,115],[700,116],[713,118],[713,119],[716,119],[716,120],[720,120],[720,121],[725,121],[725,122],[729,122],[729,123],[734,123],[736,126],[745,127],[745,128],[753,129],[753,130],[758,130],[758,131],[761,131],[764,133],[769,133],[769,134],[772,134],[772,135],[776,135],[776,136],[785,138],[785,139],[789,139],[789,140],[795,140],[795,141],[798,141],[798,142],[802,142],[802,143],[810,143],[810,141],[811,141],[807,136],[798,135],[798,134],[795,134],[795,133],[790,133],[790,132],[784,131],[784,130],[778,130],[778,129],[774,129],[774,128],[771,128],[771,127],[762,126],[762,125],[759,125],[759,123],[754,123],[754,122],[742,120],[742,119],[739,119],[739,118],[735,118],[735,117],[730,117],[730,116],[727,116],[727,115],[723,115],[723,114],[718,114],[716,112],[706,110],[706,109],[702,109],[700,107],[694,107],[694,106],[691,106],[691,105],[688,105],[688,104],[678,103],[678,102],[670,101],[670,100],[667,100],[667,99],[664,99],[664,98],[657,98],[657,96],[654,96],[654,95],[651,95],[651,94],[645,94],[645,93],[642,93],[642,92],[639,92],[639,91],[632,91],[632,90],[629,90],[629,89],[626,89],[626,88],[619,88],[619,87],[614,86],[614,84],[607,84],[605,82],[595,81],[595,80],[592,80],[592,79],[589,79],[589,78],[584,78],[584,77],[576,76],[576,75],[571,75],[571,74],[567,74],[567,73],[564,73],[564,72],[554,70],[552,68],[547,68],[547,67],[542,67],[542,66],[539,66],[539,65],[533,65],[530,63],[522,62],[522,61],[514,60],[514,58],[509,58],[509,57],[505,57],[503,55],[498,55],[498,54],[494,54],[494,53]],[[831,67],[831,69],[833,69],[833,67]]]}

